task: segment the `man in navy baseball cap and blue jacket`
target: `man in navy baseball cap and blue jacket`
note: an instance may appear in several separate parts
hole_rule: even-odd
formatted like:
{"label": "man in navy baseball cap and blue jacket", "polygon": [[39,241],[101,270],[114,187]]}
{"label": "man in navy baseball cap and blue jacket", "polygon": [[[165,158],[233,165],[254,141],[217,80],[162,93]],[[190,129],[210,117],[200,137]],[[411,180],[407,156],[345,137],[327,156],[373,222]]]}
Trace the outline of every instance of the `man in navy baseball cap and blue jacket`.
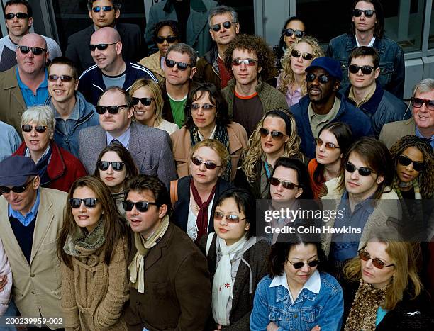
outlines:
{"label": "man in navy baseball cap and blue jacket", "polygon": [[315,158],[315,138],[327,123],[347,123],[355,139],[372,134],[369,117],[338,92],[341,79],[338,60],[316,57],[306,68],[307,95],[291,106],[301,138],[300,149],[311,159]]}

